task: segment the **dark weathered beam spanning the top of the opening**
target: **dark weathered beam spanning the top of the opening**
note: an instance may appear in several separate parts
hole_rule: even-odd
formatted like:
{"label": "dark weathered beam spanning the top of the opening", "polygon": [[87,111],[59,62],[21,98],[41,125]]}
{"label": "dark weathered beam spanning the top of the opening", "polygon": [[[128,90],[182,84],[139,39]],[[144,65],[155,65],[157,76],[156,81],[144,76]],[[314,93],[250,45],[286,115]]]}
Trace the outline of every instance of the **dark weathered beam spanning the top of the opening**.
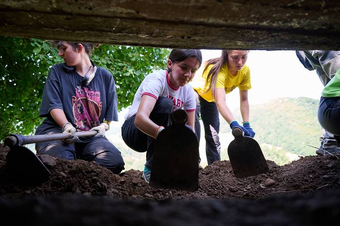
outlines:
{"label": "dark weathered beam spanning the top of the opening", "polygon": [[340,49],[339,0],[1,0],[0,35],[210,49]]}

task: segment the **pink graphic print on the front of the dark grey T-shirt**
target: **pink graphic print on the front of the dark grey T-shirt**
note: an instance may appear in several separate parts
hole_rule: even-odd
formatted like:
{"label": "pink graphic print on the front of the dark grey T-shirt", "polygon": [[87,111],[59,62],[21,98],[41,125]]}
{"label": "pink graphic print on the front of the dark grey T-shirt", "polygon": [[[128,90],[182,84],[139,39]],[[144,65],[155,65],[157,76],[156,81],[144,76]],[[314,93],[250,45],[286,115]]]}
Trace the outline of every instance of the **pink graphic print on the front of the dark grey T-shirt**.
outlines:
{"label": "pink graphic print on the front of the dark grey T-shirt", "polygon": [[89,131],[100,124],[99,117],[102,113],[101,93],[99,91],[83,88],[75,90],[72,96],[72,110],[76,128],[81,131]]}

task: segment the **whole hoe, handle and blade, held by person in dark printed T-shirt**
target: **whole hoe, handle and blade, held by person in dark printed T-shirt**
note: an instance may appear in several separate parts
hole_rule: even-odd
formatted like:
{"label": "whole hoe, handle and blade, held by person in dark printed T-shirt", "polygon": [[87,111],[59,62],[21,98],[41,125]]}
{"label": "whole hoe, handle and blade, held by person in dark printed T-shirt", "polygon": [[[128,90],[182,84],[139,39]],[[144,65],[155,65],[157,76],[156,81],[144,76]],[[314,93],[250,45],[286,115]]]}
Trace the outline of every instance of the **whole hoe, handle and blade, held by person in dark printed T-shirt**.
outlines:
{"label": "whole hoe, handle and blade, held by person in dark printed T-shirt", "polygon": [[[75,136],[95,136],[97,133],[97,131],[77,132],[75,133]],[[3,140],[4,145],[10,148],[6,156],[6,163],[14,173],[18,182],[36,184],[47,181],[51,172],[34,152],[22,145],[52,140],[63,140],[71,137],[72,136],[69,133],[34,136],[11,134]]]}

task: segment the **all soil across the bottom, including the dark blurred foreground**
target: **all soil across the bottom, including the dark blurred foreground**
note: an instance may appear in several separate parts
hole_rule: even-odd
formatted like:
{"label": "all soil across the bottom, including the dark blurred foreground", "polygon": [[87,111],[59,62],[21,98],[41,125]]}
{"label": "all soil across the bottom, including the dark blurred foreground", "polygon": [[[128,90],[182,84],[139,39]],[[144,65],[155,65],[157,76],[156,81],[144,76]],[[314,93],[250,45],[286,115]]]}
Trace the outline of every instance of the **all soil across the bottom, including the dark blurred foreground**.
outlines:
{"label": "all soil across the bottom, including the dark blurred foreground", "polygon": [[307,156],[266,174],[237,179],[229,161],[199,172],[195,192],[154,189],[141,173],[55,159],[51,177],[19,185],[0,147],[2,222],[25,226],[320,226],[340,215],[340,160]]}

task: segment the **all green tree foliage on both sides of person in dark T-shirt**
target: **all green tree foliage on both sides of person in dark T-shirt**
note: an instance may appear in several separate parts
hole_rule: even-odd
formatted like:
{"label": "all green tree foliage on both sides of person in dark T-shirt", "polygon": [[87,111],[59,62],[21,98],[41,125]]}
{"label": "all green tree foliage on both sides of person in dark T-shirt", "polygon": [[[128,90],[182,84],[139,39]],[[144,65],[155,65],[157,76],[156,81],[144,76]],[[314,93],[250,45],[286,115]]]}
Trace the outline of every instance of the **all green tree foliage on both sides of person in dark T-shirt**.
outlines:
{"label": "all green tree foliage on both sides of person in dark T-shirt", "polygon": [[[0,37],[0,140],[11,133],[31,134],[39,118],[48,72],[62,62],[47,41]],[[165,68],[169,49],[100,45],[91,55],[97,65],[114,76],[119,110],[131,105],[134,94],[153,70]]]}

